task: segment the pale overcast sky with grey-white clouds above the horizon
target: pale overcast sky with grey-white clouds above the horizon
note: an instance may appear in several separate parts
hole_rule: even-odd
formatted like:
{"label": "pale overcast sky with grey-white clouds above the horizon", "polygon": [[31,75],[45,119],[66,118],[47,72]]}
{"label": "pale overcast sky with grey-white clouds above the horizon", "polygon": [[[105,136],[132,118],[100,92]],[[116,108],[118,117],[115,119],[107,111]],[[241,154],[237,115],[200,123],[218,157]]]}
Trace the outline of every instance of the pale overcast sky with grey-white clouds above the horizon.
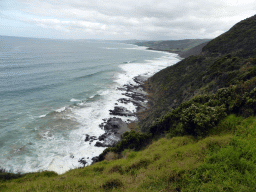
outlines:
{"label": "pale overcast sky with grey-white clouds above the horizon", "polygon": [[211,39],[255,14],[256,0],[0,0],[0,35]]}

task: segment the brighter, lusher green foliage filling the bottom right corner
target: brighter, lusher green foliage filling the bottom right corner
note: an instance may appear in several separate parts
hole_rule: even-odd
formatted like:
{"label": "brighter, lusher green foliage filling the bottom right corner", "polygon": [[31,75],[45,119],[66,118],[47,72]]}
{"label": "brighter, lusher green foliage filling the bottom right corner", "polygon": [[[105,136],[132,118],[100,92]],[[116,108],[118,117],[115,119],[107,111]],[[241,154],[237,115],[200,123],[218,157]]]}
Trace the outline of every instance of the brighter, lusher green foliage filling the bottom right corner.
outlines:
{"label": "brighter, lusher green foliage filling the bottom right corner", "polygon": [[183,176],[184,191],[255,191],[256,121],[234,116],[232,120],[237,118],[232,142],[212,151],[202,165]]}

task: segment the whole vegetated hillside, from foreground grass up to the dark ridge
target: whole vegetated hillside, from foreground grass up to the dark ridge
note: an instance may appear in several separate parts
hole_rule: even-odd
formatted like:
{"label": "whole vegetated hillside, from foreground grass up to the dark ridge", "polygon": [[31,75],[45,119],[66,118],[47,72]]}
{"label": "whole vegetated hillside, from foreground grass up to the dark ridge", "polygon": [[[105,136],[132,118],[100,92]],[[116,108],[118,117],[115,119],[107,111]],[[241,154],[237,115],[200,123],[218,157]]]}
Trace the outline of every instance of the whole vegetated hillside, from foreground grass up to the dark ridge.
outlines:
{"label": "whole vegetated hillside, from foreground grass up to the dark ridge", "polygon": [[[0,191],[255,191],[256,15],[145,82],[150,110],[100,162],[0,170]],[[136,130],[137,130],[136,129]]]}

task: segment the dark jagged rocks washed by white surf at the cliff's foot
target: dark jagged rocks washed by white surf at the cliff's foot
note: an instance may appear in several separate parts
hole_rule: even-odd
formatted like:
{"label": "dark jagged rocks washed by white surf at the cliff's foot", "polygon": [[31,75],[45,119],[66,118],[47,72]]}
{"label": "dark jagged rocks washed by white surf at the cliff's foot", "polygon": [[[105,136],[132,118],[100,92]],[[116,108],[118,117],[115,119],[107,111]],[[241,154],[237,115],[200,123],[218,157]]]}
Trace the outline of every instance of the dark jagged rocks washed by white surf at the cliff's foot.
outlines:
{"label": "dark jagged rocks washed by white surf at the cliff's foot", "polygon": [[[147,77],[144,76],[136,76],[133,78],[134,82],[137,85],[126,84],[123,87],[117,88],[122,91],[122,95],[125,97],[120,98],[116,101],[114,109],[109,110],[109,114],[113,117],[109,119],[102,119],[103,122],[99,125],[101,129],[105,131],[105,133],[99,137],[90,136],[88,134],[85,135],[85,142],[89,142],[89,144],[93,143],[95,140],[95,147],[113,147],[116,145],[118,141],[121,140],[121,136],[126,131],[130,131],[128,128],[129,123],[134,123],[131,120],[127,120],[127,122],[123,121],[121,117],[131,117],[137,116],[137,113],[140,113],[147,109],[147,92],[143,89],[143,84],[147,80]],[[119,103],[132,103],[136,106],[136,112],[131,112],[123,106],[119,106]],[[92,158],[92,163],[97,162],[98,157]],[[85,159],[79,159],[78,161],[83,166],[87,164]]]}

